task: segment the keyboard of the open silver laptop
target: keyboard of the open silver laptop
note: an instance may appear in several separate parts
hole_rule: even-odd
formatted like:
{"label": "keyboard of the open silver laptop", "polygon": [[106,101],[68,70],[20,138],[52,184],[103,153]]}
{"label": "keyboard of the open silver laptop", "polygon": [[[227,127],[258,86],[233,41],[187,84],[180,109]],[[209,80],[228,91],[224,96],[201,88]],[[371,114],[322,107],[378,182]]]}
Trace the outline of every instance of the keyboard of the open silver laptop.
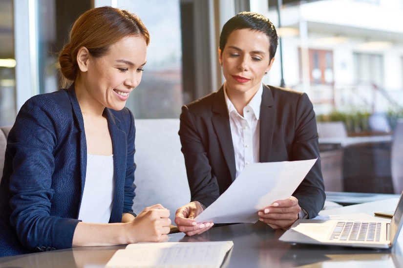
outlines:
{"label": "keyboard of the open silver laptop", "polygon": [[379,241],[380,238],[380,222],[338,222],[330,235],[330,240]]}

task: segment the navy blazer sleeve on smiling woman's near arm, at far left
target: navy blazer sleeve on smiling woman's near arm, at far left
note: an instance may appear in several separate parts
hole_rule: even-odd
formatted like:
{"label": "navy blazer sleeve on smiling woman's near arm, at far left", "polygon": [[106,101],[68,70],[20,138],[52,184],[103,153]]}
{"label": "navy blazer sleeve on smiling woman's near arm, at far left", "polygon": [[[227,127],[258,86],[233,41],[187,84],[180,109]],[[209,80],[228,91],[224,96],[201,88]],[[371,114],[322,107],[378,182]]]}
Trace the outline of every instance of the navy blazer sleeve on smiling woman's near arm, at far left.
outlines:
{"label": "navy blazer sleeve on smiling woman's near arm, at far left", "polygon": [[71,248],[80,221],[50,215],[57,129],[63,129],[67,120],[51,100],[35,100],[22,106],[9,134],[6,153],[13,155],[10,223],[27,248]]}

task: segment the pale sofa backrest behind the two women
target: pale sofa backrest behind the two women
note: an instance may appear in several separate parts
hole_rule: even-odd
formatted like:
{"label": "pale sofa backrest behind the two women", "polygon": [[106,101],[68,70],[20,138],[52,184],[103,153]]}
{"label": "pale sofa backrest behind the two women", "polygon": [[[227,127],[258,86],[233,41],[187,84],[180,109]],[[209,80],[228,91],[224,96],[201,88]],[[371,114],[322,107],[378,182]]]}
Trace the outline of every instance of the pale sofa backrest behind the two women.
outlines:
{"label": "pale sofa backrest behind the two women", "polygon": [[[135,125],[137,188],[133,211],[139,213],[160,203],[170,210],[173,223],[175,211],[191,198],[178,135],[179,119],[136,119]],[[0,131],[0,178],[10,129],[1,127]]]}

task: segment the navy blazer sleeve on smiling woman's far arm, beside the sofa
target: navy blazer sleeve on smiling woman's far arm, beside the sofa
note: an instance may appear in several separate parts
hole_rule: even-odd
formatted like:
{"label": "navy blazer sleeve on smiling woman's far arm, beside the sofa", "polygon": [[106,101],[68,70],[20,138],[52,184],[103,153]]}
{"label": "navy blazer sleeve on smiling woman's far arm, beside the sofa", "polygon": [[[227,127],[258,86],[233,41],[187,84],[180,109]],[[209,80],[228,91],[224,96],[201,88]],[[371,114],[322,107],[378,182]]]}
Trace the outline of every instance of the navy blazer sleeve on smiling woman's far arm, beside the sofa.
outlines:
{"label": "navy blazer sleeve on smiling woman's far arm, beside the sofa", "polygon": [[133,198],[136,196],[134,190],[136,189],[136,185],[134,184],[134,171],[136,170],[136,164],[134,163],[134,153],[136,152],[134,146],[134,140],[136,136],[136,129],[134,126],[134,117],[129,109],[127,110],[127,119],[128,119],[128,131],[127,131],[127,163],[126,163],[126,178],[125,178],[125,189],[124,189],[124,204],[123,204],[123,213],[130,213],[136,216],[133,213]]}

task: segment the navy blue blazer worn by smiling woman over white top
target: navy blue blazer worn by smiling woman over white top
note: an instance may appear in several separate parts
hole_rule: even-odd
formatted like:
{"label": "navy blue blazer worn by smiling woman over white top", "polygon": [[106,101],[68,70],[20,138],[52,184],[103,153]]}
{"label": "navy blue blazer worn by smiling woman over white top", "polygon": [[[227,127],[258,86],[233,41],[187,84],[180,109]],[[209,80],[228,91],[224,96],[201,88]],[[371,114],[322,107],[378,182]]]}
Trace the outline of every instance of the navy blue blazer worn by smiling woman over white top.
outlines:
{"label": "navy blue blazer worn by smiling woman over white top", "polygon": [[[132,212],[135,195],[134,119],[127,108],[104,113],[115,187],[109,222],[121,222],[123,213]],[[0,184],[0,256],[72,247],[86,155],[74,85],[34,96],[21,107],[8,135]]]}

